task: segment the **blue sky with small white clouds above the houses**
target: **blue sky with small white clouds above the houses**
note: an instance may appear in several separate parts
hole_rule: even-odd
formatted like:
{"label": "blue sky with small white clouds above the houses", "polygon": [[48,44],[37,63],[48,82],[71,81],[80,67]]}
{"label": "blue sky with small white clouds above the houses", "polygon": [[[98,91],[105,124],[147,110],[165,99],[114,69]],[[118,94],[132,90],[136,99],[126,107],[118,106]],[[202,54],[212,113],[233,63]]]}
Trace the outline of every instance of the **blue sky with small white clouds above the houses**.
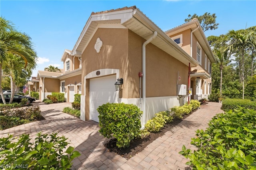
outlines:
{"label": "blue sky with small white clouds above the houses", "polygon": [[92,12],[134,5],[163,31],[184,24],[188,14],[205,12],[215,13],[219,23],[217,30],[205,32],[206,37],[256,26],[255,0],[0,0],[0,15],[32,38],[39,57],[32,75],[36,76],[49,65],[63,68],[64,50],[73,49]]}

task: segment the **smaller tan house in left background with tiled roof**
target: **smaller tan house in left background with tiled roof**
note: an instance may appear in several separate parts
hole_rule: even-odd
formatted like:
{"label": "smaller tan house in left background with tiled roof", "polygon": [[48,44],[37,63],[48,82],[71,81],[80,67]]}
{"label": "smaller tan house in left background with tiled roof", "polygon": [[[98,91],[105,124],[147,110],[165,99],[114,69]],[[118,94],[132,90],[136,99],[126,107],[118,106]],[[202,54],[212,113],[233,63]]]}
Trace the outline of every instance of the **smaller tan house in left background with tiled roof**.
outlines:
{"label": "smaller tan house in left background with tiled roof", "polygon": [[64,50],[61,57],[63,68],[61,72],[38,71],[39,99],[46,99],[52,92],[65,94],[67,102],[74,101],[74,94],[82,93],[81,86],[81,59],[70,55],[71,51]]}

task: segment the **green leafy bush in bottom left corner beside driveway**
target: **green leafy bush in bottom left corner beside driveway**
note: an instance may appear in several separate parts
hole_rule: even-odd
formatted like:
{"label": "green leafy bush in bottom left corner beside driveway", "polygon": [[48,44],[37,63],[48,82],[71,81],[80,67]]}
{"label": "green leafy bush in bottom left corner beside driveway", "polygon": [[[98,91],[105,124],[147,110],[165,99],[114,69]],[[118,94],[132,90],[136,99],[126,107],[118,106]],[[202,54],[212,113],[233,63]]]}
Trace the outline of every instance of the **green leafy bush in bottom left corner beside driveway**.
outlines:
{"label": "green leafy bush in bottom left corner beside driveway", "polygon": [[[57,136],[57,133],[42,134],[39,132],[35,143],[30,142],[28,134],[22,134],[17,142],[12,139],[12,135],[7,138],[0,138],[1,167],[5,169],[70,169],[72,160],[80,156],[78,151],[74,151],[69,146],[65,136]],[[22,165],[22,167],[20,167]],[[17,167],[17,168],[16,168]]]}

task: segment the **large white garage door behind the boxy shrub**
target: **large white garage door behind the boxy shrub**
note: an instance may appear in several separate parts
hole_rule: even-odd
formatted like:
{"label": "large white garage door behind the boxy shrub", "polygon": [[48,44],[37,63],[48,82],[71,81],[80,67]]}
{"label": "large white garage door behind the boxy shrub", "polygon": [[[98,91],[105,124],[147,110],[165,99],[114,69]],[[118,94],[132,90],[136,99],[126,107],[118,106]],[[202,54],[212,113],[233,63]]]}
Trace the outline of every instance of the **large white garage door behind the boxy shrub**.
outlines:
{"label": "large white garage door behind the boxy shrub", "polygon": [[90,119],[99,122],[97,108],[105,103],[116,103],[116,75],[90,79]]}

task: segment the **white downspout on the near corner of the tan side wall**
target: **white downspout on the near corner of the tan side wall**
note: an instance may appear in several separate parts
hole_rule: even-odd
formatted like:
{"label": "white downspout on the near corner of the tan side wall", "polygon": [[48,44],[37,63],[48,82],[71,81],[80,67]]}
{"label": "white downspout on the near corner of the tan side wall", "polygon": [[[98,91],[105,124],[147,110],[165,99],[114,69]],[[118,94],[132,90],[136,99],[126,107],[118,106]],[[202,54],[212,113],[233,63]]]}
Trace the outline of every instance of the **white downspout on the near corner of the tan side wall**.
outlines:
{"label": "white downspout on the near corner of the tan side wall", "polygon": [[143,99],[143,114],[142,114],[142,126],[146,124],[146,45],[156,38],[157,32],[154,31],[152,37],[150,37],[142,45],[142,99]]}

